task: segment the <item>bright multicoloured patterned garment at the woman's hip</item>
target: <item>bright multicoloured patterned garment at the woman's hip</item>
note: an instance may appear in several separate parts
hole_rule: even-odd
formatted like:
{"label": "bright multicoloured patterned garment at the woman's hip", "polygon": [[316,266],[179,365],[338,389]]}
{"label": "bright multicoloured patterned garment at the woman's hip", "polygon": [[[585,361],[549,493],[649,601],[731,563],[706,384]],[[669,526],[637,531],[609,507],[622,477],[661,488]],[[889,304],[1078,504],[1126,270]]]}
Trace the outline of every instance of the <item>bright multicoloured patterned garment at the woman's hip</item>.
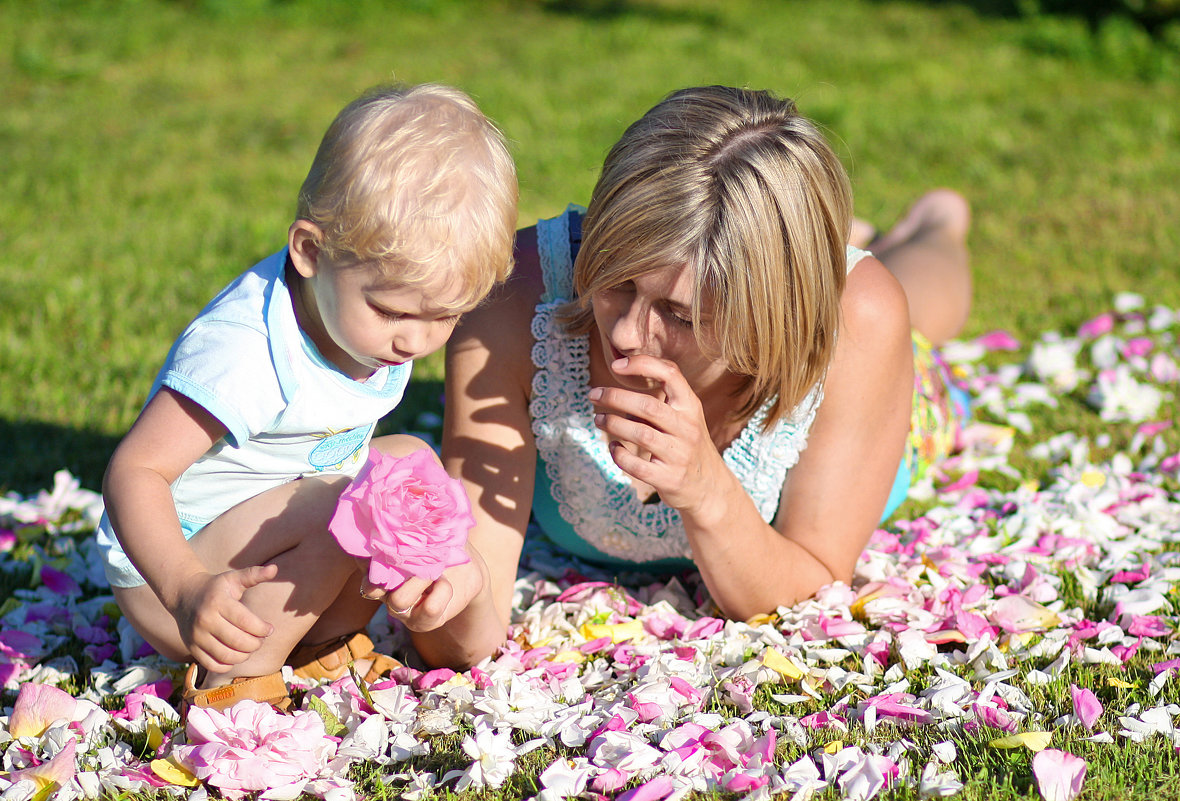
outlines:
{"label": "bright multicoloured patterned garment at the woman's hip", "polygon": [[930,341],[912,333],[913,339],[913,411],[910,415],[910,439],[881,523],[905,500],[910,486],[925,477],[931,465],[953,452],[959,432],[971,416],[971,399],[955,382],[950,366]]}

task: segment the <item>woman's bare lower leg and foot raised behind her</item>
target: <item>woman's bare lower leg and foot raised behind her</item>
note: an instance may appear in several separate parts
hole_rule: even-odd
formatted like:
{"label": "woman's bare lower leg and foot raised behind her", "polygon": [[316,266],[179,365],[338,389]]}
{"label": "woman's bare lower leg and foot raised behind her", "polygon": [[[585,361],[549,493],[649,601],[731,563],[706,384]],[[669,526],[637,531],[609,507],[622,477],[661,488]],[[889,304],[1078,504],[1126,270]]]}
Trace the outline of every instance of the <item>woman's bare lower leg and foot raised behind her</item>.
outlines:
{"label": "woman's bare lower leg and foot raised behind her", "polygon": [[902,283],[910,324],[935,344],[958,335],[971,309],[970,225],[966,201],[938,189],[918,198],[897,225],[868,245]]}

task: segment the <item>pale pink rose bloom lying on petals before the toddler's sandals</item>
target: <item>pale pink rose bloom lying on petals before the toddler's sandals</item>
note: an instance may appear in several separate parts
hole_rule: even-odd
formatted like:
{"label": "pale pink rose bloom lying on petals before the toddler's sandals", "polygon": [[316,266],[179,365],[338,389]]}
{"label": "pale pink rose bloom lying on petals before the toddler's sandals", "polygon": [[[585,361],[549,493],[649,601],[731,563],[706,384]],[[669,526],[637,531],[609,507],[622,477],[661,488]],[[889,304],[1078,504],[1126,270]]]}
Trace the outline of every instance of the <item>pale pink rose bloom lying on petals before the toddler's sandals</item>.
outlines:
{"label": "pale pink rose bloom lying on petals before the toddler's sandals", "polygon": [[299,784],[328,769],[336,742],[315,713],[283,715],[270,704],[240,701],[218,711],[189,710],[188,746],[177,746],[177,760],[197,779],[228,799],[254,790]]}

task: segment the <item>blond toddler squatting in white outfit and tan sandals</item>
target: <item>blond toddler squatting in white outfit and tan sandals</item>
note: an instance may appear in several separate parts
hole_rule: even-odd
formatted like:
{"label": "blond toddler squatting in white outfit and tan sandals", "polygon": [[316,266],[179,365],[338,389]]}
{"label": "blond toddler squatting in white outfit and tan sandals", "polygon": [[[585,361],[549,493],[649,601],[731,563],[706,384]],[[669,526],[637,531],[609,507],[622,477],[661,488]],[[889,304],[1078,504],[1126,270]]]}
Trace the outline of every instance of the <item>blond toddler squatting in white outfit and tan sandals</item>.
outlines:
{"label": "blond toddler squatting in white outfit and tan sandals", "polygon": [[[192,663],[185,705],[286,708],[283,664],[323,678],[352,659],[369,678],[395,664],[363,628],[379,599],[411,610],[365,580],[327,524],[369,447],[426,447],[371,439],[411,362],[507,277],[516,199],[504,139],[467,96],[371,90],[324,134],[287,247],[172,346],[107,467],[98,541],[131,624]],[[471,586],[402,597],[461,609],[479,570],[460,576]]]}

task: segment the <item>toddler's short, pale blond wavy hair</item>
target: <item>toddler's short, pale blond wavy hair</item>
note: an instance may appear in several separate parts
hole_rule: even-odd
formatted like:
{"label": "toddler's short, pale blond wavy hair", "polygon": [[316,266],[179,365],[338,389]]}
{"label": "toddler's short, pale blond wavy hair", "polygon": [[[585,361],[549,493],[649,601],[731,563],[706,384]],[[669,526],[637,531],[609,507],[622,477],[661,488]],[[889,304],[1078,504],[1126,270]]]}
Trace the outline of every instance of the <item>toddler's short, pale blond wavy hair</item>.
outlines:
{"label": "toddler's short, pale blond wavy hair", "polygon": [[455,308],[512,269],[517,177],[500,131],[459,90],[378,86],[341,111],[320,144],[296,215],[323,252],[378,262],[392,284],[455,270]]}

